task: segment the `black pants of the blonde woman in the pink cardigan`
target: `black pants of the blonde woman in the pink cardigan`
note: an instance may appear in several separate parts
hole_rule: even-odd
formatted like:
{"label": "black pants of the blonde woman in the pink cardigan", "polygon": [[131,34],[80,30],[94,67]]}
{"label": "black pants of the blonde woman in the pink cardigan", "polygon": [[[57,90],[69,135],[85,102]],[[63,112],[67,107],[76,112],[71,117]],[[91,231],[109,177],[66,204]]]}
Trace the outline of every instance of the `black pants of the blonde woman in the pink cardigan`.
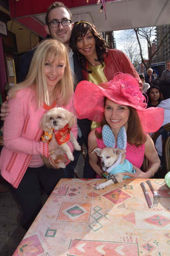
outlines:
{"label": "black pants of the blonde woman in the pink cardigan", "polygon": [[16,197],[23,210],[20,222],[24,229],[29,229],[42,208],[40,184],[47,195],[50,196],[61,178],[65,178],[62,168],[48,169],[46,166],[38,168],[28,167],[18,188],[14,188]]}

